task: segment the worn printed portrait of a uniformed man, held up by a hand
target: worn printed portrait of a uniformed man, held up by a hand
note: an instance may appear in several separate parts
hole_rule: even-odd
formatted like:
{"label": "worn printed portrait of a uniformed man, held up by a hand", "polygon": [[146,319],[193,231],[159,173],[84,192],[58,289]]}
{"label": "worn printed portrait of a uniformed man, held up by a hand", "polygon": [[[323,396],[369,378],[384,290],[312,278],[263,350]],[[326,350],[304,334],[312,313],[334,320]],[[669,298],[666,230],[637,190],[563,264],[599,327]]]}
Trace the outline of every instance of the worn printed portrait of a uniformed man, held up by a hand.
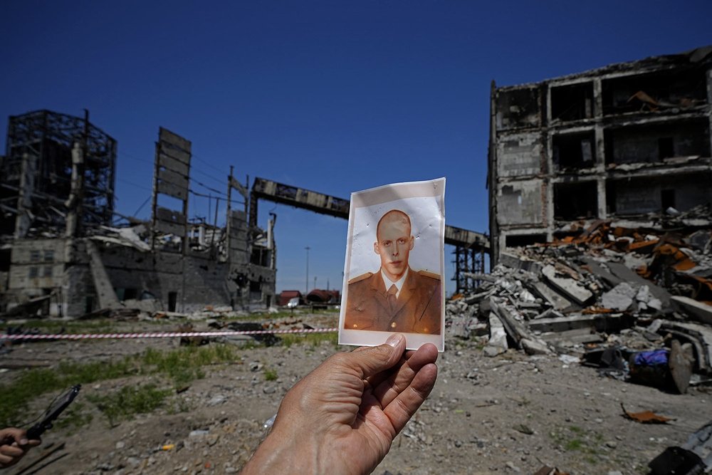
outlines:
{"label": "worn printed portrait of a uniformed man, held up by a hand", "polygon": [[339,325],[343,345],[444,350],[445,179],[351,195]]}

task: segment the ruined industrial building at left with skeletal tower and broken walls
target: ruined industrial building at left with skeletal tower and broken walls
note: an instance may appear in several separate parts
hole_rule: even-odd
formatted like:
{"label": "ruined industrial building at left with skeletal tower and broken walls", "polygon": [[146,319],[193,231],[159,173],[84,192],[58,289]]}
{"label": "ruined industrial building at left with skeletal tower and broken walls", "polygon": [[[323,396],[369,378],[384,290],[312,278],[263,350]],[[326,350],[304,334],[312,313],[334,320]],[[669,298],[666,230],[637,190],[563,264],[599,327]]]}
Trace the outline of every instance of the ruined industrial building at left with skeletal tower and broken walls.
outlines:
{"label": "ruined industrial building at left with skeletal tower and broken walls", "polygon": [[[267,231],[248,225],[244,186],[228,177],[226,227],[189,220],[191,143],[161,128],[152,218],[120,216],[116,151],[88,113],[38,110],[9,119],[0,157],[0,313],[273,303],[273,220]],[[240,209],[232,206],[235,190]],[[112,227],[117,218],[128,224]]]}

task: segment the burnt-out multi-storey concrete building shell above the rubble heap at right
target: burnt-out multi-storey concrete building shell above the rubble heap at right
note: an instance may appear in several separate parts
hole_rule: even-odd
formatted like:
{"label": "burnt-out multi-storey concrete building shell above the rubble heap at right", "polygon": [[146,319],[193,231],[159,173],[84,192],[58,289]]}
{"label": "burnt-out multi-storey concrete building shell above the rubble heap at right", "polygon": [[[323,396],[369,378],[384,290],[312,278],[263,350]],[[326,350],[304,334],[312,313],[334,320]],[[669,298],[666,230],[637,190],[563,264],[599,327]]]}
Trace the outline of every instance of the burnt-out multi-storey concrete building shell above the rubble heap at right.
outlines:
{"label": "burnt-out multi-storey concrete building shell above the rubble heap at right", "polygon": [[712,46],[540,83],[493,83],[492,263],[508,246],[580,231],[572,223],[581,219],[644,226],[709,205],[711,111]]}

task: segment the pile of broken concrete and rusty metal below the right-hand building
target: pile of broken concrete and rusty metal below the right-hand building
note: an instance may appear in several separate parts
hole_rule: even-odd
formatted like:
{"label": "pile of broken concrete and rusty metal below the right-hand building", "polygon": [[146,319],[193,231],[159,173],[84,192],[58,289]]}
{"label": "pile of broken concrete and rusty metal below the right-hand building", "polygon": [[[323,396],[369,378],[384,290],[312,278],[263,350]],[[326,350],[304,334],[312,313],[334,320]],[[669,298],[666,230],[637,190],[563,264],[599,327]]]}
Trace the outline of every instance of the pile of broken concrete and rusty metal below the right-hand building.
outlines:
{"label": "pile of broken concrete and rusty metal below the right-hand building", "polygon": [[[449,335],[486,340],[489,356],[558,353],[679,392],[712,381],[711,226],[666,216],[677,231],[670,221],[667,231],[592,221],[553,243],[508,249],[492,273],[468,274],[474,293],[449,301]],[[646,363],[655,350],[661,359]]]}

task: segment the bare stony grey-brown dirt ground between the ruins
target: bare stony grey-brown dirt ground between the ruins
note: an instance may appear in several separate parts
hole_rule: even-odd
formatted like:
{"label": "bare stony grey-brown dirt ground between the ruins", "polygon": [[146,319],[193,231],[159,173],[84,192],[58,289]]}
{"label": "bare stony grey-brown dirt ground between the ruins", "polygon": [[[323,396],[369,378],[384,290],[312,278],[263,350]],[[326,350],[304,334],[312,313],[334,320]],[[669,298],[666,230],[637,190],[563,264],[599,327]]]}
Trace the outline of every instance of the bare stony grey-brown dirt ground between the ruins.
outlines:
{"label": "bare stony grey-brown dirt ground between the ruins", "polygon": [[[337,317],[304,315],[303,320],[329,327]],[[124,326],[126,331],[157,330],[156,325],[135,322]],[[208,329],[204,322],[195,326]],[[0,362],[8,367],[23,361],[55,365],[60,360],[109,360],[177,345],[169,338],[25,343],[0,355]],[[263,424],[276,413],[284,393],[340,350],[349,348],[323,342],[316,347],[240,349],[239,362],[204,368],[203,379],[173,396],[190,408],[187,412],[157,409],[116,427],[87,403],[86,409],[95,411],[90,424],[78,430],[51,429],[42,446],[8,473],[236,473],[265,435]],[[654,456],[684,443],[712,419],[709,388],[675,395],[602,377],[594,368],[567,365],[556,356],[509,350],[486,357],[478,340],[446,339],[438,366],[429,400],[395,439],[375,474],[533,474],[544,465],[570,474],[646,474]],[[276,380],[267,380],[266,368],[276,372]],[[16,371],[1,373],[0,383],[9,382]],[[150,378],[87,385],[78,401]],[[44,398],[38,404],[47,402]],[[651,410],[674,421],[633,422],[623,417],[621,403],[630,412]]]}

